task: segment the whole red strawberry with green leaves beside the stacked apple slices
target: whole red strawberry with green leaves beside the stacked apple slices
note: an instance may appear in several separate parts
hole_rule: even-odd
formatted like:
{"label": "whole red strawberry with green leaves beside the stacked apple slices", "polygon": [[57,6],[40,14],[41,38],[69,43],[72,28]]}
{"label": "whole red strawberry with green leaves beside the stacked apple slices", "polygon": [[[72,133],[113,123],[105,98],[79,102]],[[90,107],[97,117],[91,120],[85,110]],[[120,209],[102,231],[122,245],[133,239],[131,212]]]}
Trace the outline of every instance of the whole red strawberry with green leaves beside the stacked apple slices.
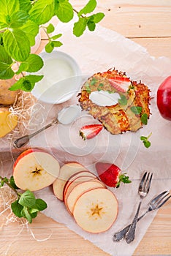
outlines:
{"label": "whole red strawberry with green leaves beside the stacked apple slices", "polygon": [[113,164],[106,162],[97,162],[96,171],[99,175],[99,178],[106,184],[108,187],[119,187],[120,183],[130,183],[129,177],[125,176],[126,173],[121,174],[121,169]]}

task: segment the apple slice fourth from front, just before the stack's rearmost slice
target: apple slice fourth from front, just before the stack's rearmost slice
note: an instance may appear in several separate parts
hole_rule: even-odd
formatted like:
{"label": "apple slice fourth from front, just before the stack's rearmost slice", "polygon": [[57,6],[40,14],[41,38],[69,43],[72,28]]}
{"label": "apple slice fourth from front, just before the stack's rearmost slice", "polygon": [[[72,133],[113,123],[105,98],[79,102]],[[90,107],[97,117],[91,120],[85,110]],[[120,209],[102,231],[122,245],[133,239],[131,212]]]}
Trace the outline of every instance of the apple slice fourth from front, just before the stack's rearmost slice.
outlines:
{"label": "apple slice fourth from front, just before the stack's rearmost slice", "polygon": [[[86,170],[83,170],[83,171],[81,171],[81,172],[79,172],[79,173],[73,174],[73,175],[69,178],[69,180],[66,181],[66,184],[65,184],[65,186],[64,186],[64,190],[63,190],[63,200],[64,200],[66,191],[67,191],[68,187],[70,186],[70,184],[72,184],[72,182],[75,181],[77,178],[80,178],[80,177],[83,177],[83,176],[88,176],[89,179],[90,179],[90,178],[97,178],[97,177],[94,175],[94,173],[91,173],[91,172],[89,172],[88,170],[87,170],[87,171],[86,171]],[[98,179],[98,178],[97,178],[97,179]],[[85,180],[88,180],[88,178],[87,178],[87,179],[85,178]]]}

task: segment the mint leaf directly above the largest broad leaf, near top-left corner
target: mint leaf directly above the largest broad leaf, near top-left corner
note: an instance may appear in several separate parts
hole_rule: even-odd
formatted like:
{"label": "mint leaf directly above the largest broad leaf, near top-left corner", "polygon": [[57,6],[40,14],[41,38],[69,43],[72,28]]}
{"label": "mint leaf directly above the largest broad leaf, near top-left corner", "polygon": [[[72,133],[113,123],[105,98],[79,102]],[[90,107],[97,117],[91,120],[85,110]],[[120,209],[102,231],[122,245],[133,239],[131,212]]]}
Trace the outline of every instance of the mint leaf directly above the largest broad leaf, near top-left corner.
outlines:
{"label": "mint leaf directly above the largest broad leaf, near top-left corner", "polygon": [[23,26],[24,23],[28,20],[29,15],[24,10],[20,10],[19,12],[14,12],[10,17],[9,27],[10,28],[18,28]]}

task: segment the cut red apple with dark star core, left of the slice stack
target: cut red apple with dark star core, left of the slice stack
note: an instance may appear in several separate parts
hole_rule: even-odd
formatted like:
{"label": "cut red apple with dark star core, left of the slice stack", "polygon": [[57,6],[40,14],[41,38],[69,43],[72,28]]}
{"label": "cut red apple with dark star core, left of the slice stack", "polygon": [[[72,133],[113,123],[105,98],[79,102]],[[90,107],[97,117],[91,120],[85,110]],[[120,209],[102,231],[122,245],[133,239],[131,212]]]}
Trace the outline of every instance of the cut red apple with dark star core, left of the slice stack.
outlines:
{"label": "cut red apple with dark star core, left of the slice stack", "polygon": [[45,151],[29,148],[16,159],[13,176],[20,189],[37,191],[53,184],[59,170],[56,158]]}

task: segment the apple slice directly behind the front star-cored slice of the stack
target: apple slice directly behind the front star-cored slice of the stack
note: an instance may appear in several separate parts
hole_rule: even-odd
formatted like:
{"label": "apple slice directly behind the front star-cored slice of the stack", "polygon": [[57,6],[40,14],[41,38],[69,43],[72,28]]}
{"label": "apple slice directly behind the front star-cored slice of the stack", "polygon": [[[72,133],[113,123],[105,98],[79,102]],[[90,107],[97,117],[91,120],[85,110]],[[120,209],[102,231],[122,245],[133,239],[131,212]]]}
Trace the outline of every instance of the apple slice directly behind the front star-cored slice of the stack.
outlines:
{"label": "apple slice directly behind the front star-cored slice of the stack", "polygon": [[[92,181],[85,181],[80,184],[77,184],[72,191],[69,192],[69,195],[66,196],[65,198],[65,205],[67,210],[69,211],[70,214],[73,214],[73,210],[75,207],[75,203],[77,199],[80,197],[85,192],[88,192],[89,190],[100,188],[100,187],[105,187],[102,182],[99,182],[98,180],[92,180]],[[68,189],[69,190],[69,189]]]}

